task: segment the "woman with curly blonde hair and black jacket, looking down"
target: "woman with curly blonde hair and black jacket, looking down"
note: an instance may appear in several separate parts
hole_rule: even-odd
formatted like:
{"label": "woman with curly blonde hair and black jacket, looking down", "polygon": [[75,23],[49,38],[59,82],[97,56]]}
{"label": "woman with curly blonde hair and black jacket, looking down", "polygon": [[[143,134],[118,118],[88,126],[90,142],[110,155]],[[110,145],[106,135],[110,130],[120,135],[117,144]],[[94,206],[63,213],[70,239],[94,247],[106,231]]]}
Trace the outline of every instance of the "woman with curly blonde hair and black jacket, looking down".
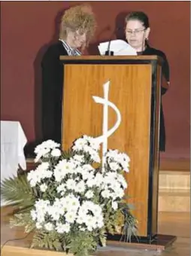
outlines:
{"label": "woman with curly blonde hair and black jacket, looking down", "polygon": [[[88,5],[69,8],[62,16],[59,40],[43,56],[42,133],[43,139],[61,142],[63,66],[59,56],[81,55],[95,32],[95,17]],[[80,50],[79,50],[80,49]]]}

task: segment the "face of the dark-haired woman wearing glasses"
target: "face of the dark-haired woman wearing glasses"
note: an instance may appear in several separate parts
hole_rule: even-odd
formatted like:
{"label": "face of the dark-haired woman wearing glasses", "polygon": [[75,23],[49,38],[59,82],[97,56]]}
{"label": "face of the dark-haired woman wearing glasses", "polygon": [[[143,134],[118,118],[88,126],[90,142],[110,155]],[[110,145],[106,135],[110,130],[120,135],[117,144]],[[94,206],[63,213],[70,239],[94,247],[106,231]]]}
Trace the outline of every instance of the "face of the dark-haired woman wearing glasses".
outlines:
{"label": "face of the dark-haired woman wearing glasses", "polygon": [[145,29],[140,20],[129,20],[126,23],[126,40],[137,51],[144,50],[145,39],[149,33],[150,28]]}

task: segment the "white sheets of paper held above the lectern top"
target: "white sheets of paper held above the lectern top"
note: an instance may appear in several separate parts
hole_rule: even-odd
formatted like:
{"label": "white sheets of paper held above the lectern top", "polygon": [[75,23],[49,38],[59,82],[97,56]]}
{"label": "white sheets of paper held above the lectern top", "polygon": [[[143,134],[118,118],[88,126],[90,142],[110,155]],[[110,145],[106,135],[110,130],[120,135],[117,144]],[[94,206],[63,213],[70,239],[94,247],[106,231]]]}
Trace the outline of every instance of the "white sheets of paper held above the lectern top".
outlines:
{"label": "white sheets of paper held above the lectern top", "polygon": [[114,56],[138,55],[136,50],[133,47],[131,47],[128,43],[126,43],[126,41],[123,41],[120,39],[100,43],[98,48],[99,48],[100,55],[105,55],[105,52],[107,50],[113,51]]}

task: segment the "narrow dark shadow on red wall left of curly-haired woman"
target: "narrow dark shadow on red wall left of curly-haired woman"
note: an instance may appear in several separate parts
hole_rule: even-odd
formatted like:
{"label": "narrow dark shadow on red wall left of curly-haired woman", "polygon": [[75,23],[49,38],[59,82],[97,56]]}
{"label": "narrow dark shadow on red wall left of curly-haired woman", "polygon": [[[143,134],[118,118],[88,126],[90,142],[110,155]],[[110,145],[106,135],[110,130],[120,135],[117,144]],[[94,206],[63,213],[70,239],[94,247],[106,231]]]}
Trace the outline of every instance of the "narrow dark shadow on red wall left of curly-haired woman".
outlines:
{"label": "narrow dark shadow on red wall left of curly-haired woman", "polygon": [[54,20],[54,32],[53,36],[47,44],[44,44],[39,50],[35,57],[35,61],[33,62],[33,68],[35,73],[34,79],[34,87],[35,87],[35,96],[34,96],[34,106],[35,106],[35,141],[29,142],[25,147],[26,157],[34,157],[34,149],[36,145],[40,144],[43,141],[42,134],[42,84],[41,84],[41,60],[44,56],[44,53],[47,51],[47,48],[50,47],[51,44],[55,43],[59,38],[59,24],[63,13],[67,10],[67,8],[62,9],[56,15]]}

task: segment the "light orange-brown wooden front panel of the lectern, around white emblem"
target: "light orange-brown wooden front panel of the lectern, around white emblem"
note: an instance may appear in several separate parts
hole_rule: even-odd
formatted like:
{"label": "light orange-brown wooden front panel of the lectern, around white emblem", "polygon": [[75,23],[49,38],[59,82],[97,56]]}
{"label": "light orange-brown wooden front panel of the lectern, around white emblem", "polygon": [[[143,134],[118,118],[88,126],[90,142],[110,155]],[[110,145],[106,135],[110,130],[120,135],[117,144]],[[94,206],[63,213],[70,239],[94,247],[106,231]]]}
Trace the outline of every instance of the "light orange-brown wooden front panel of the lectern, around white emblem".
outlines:
{"label": "light orange-brown wooden front panel of the lectern, around white emblem", "polygon": [[[108,148],[126,152],[131,159],[126,174],[128,195],[135,204],[140,236],[147,236],[148,190],[150,169],[150,105],[152,66],[65,64],[62,109],[62,148],[71,146],[83,134],[102,135],[103,106],[92,96],[103,96],[103,87],[111,81],[109,100],[119,108],[122,122],[108,139]],[[108,111],[108,127],[116,114]],[[64,128],[63,128],[64,127]]]}

